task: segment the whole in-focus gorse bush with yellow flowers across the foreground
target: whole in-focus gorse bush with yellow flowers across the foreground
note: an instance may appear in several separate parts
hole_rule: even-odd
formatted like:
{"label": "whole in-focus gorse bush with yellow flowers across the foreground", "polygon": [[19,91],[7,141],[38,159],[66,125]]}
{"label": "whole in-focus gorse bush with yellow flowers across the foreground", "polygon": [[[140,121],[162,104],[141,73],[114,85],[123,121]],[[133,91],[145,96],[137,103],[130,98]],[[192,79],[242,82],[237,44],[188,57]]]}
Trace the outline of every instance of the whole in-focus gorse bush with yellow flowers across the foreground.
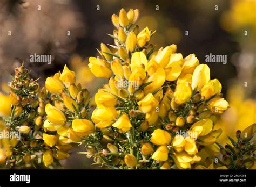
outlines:
{"label": "whole in-focus gorse bush with yellow flowers across the foreground", "polygon": [[113,169],[255,167],[255,125],[230,138],[232,146],[219,145],[222,131],[214,125],[229,107],[221,83],[196,55],[183,58],[174,44],[156,50],[156,31],[140,31],[138,17],[137,9],[113,15],[114,45],[101,44],[101,57],[89,58],[91,72],[108,80],[91,115],[89,92],[68,67],[41,90],[24,66],[16,70],[0,113],[3,128],[22,134],[21,141],[2,139],[3,166],[37,167],[41,157],[45,167],[55,166],[83,143],[82,154]]}

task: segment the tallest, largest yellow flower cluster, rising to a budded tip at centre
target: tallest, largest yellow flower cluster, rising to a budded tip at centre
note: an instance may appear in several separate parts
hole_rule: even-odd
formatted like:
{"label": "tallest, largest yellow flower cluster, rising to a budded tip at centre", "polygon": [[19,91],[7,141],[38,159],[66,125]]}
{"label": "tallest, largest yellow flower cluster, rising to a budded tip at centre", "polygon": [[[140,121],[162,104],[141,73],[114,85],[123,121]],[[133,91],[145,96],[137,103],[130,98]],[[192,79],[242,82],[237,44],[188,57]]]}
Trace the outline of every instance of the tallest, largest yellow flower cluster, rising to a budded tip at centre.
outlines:
{"label": "tallest, largest yellow flower cluster, rising to a budded tip at centre", "polygon": [[92,113],[109,150],[95,154],[112,167],[193,168],[204,149],[213,153],[204,159],[215,156],[221,129],[213,126],[228,103],[220,82],[210,80],[209,67],[194,54],[183,59],[176,45],[155,51],[155,31],[139,31],[138,14],[122,9],[113,15],[115,45],[101,44],[102,59],[89,59],[95,76],[109,78],[96,93]]}

